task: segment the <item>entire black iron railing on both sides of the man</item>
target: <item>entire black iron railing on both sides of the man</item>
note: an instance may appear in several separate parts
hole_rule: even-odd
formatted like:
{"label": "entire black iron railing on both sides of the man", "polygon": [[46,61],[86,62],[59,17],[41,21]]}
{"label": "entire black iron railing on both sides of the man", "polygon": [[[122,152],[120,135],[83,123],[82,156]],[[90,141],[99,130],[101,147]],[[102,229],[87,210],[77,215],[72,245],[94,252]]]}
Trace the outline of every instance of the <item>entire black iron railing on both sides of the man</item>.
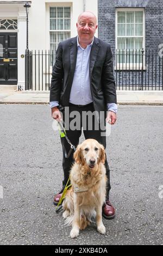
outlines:
{"label": "entire black iron railing on both sides of the man", "polygon": [[[117,90],[163,90],[163,57],[156,50],[112,53]],[[49,90],[53,51],[26,51],[26,90]]]}

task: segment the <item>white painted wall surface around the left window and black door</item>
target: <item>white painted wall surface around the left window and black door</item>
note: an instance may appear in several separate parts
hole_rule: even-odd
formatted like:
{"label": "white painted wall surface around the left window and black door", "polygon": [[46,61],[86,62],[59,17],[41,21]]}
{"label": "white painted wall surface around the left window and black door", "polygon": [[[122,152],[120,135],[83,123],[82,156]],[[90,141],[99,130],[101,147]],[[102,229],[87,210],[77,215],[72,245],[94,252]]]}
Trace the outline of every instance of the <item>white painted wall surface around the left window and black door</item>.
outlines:
{"label": "white painted wall surface around the left window and black door", "polygon": [[[18,86],[24,89],[25,84],[25,59],[21,54],[26,50],[26,9],[23,7],[22,0],[3,0],[11,3],[1,3],[0,0],[0,19],[17,19],[17,45],[18,45]],[[20,2],[20,3],[16,3]],[[98,19],[98,0],[32,0],[29,8],[29,50],[49,50],[49,7],[68,6],[71,7],[71,37],[77,35],[76,22],[79,14],[85,10],[92,11]],[[9,32],[9,31],[1,31]],[[98,35],[96,31],[95,36]],[[45,73],[45,71],[43,71]],[[52,70],[49,70],[51,73]]]}

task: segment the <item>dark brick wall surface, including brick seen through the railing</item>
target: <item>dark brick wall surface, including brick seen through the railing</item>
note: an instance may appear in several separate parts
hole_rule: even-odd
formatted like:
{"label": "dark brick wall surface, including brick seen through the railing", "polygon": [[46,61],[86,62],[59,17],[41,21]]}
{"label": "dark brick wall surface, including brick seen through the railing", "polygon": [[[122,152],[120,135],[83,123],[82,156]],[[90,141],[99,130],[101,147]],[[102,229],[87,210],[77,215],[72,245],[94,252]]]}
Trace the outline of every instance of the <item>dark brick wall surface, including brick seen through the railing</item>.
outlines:
{"label": "dark brick wall surface, including brick seen through the railing", "polygon": [[[159,52],[159,45],[163,44],[163,1],[162,0],[98,0],[98,38],[109,42],[112,51],[115,52],[115,10],[116,8],[145,8],[145,49]],[[146,52],[145,52],[146,53]],[[115,56],[114,56],[115,63]],[[163,89],[163,57],[151,57],[149,65],[146,63],[146,71],[143,71],[143,79],[148,85]],[[139,72],[138,72],[139,74]],[[123,76],[124,75],[124,76]],[[142,80],[140,76],[140,80]],[[117,85],[127,85],[135,81],[136,72],[115,72]],[[131,78],[131,77],[134,77]],[[127,82],[126,82],[127,81]],[[135,82],[134,82],[135,83]],[[137,82],[136,82],[137,83]],[[121,89],[119,86],[119,89]],[[147,86],[143,83],[143,87]],[[118,87],[117,87],[118,88]],[[151,89],[151,88],[150,88]]]}

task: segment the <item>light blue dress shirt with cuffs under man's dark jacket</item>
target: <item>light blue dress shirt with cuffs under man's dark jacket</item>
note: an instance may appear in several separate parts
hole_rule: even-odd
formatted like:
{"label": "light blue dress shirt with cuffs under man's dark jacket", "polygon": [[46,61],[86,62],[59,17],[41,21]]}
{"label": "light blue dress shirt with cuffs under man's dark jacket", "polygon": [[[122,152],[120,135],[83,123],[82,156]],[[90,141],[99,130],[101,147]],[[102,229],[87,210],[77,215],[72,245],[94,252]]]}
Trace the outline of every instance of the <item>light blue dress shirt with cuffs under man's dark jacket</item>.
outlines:
{"label": "light blue dress shirt with cuffs under man's dark jacket", "polygon": [[[72,88],[70,93],[70,102],[75,105],[87,105],[92,100],[90,77],[89,77],[89,65],[90,65],[90,52],[93,44],[93,40],[90,45],[84,49],[79,45],[77,37],[77,62],[76,69],[74,71],[74,77],[72,82]],[[58,101],[51,101],[50,107],[56,107],[59,105]],[[116,103],[107,103],[108,111],[117,112]]]}

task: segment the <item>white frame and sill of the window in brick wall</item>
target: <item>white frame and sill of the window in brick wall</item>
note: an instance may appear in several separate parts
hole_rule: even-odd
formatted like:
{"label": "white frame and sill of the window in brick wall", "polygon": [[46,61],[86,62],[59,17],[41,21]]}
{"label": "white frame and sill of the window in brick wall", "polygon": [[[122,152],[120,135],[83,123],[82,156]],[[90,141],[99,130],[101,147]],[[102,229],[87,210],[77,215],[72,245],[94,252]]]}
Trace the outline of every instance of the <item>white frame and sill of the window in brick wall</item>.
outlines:
{"label": "white frame and sill of the window in brick wall", "polygon": [[[118,31],[118,11],[143,11],[143,35],[140,36],[140,35],[131,35],[131,36],[118,36],[117,35],[117,31]],[[127,22],[125,22],[124,24],[126,24]],[[134,29],[135,29],[135,21],[134,21]],[[116,8],[116,15],[115,15],[115,53],[116,53],[116,49],[117,49],[117,41],[118,41],[118,38],[140,38],[142,37],[143,40],[142,40],[142,48],[143,50],[145,51],[145,8]],[[135,45],[134,45],[135,47]],[[123,49],[123,50],[126,50],[126,49]],[[127,49],[129,50],[129,49]],[[133,50],[133,49],[130,49],[130,50]],[[117,49],[117,52],[119,50]],[[134,51],[135,51],[135,48],[134,48]],[[117,66],[115,66],[115,70],[137,70],[137,69],[142,69],[142,63],[140,63],[140,66],[139,66],[139,63],[118,63],[117,62]],[[145,56],[143,56],[143,69],[146,69],[146,66],[145,66]]]}

